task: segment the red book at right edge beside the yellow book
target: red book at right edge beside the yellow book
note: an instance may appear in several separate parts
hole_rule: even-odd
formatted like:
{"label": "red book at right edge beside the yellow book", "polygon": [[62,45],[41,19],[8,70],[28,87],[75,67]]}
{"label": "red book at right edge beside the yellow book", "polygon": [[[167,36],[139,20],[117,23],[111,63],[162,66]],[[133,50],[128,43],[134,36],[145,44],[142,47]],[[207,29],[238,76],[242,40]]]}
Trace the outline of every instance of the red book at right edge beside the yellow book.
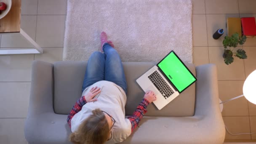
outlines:
{"label": "red book at right edge beside the yellow book", "polygon": [[256,35],[256,23],[254,17],[241,18],[243,35],[245,36],[254,36]]}

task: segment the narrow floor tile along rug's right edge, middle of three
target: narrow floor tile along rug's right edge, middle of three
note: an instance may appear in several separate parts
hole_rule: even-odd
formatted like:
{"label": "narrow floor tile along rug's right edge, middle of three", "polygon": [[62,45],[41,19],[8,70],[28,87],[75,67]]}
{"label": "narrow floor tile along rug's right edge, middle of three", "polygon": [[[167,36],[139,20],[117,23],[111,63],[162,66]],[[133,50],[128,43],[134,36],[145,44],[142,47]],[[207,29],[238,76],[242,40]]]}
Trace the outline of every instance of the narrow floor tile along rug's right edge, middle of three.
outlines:
{"label": "narrow floor tile along rug's right edge, middle of three", "polygon": [[206,18],[204,14],[192,15],[193,46],[207,46]]}

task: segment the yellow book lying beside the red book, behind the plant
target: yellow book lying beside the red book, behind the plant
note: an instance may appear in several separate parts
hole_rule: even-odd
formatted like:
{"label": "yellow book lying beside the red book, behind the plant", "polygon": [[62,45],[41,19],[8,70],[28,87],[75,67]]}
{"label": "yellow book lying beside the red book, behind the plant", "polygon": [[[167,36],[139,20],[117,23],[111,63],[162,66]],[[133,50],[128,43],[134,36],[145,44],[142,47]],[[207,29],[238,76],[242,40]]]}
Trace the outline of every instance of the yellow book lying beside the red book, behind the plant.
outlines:
{"label": "yellow book lying beside the red book, behind the plant", "polygon": [[241,19],[227,18],[227,35],[230,37],[236,32],[239,34],[239,36],[242,35]]}

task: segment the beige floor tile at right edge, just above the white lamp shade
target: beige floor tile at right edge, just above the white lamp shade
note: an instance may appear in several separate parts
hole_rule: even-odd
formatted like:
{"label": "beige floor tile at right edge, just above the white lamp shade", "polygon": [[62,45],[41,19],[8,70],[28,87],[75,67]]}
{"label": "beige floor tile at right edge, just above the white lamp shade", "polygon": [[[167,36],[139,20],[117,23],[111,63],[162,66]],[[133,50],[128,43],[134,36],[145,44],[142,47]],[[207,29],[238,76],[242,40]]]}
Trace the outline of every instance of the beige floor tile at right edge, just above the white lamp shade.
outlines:
{"label": "beige floor tile at right edge, just above the white lamp shade", "polygon": [[243,49],[246,52],[247,59],[245,61],[245,77],[251,74],[256,70],[256,46],[243,46]]}

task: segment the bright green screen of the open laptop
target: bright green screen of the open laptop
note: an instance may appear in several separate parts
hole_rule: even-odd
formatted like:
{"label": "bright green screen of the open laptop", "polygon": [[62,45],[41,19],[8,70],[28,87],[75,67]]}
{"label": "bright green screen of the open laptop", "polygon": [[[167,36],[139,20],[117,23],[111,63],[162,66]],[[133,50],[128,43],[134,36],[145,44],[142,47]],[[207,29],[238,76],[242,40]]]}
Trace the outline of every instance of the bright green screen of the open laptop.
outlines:
{"label": "bright green screen of the open laptop", "polygon": [[196,80],[173,52],[166,56],[157,66],[160,67],[179,92]]}

